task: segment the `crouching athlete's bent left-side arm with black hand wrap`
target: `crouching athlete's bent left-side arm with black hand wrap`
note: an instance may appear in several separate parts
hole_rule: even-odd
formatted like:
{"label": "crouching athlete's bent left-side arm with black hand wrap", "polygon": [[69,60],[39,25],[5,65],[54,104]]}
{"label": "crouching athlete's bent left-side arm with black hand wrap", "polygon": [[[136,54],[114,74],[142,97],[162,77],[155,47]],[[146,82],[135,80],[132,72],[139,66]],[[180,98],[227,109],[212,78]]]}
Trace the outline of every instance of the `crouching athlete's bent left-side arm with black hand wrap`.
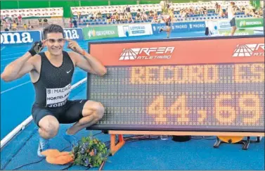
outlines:
{"label": "crouching athlete's bent left-side arm with black hand wrap", "polygon": [[23,56],[6,65],[4,72],[1,73],[1,79],[11,82],[34,70],[34,56],[44,48],[43,42],[35,42]]}

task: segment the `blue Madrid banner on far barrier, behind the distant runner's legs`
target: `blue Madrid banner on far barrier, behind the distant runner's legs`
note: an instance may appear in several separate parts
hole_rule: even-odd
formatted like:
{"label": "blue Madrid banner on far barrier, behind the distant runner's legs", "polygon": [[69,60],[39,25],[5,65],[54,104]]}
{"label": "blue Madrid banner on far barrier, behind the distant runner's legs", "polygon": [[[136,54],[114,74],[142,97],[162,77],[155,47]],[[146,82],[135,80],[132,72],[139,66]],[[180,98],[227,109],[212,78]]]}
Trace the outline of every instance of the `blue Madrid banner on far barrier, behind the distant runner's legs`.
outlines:
{"label": "blue Madrid banner on far barrier, behind the distant runner's legs", "polygon": [[[165,23],[152,24],[153,34],[158,34],[160,28],[166,27]],[[205,31],[205,21],[172,23],[172,32],[200,32]]]}

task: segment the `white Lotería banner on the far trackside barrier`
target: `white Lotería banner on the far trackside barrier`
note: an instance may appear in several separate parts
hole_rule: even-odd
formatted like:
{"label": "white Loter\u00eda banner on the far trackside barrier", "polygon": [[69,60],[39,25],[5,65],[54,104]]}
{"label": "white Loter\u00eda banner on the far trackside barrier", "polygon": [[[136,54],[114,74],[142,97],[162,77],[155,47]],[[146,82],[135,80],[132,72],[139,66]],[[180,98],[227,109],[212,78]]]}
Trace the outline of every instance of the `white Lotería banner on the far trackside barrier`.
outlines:
{"label": "white Loter\u00eda banner on the far trackside barrier", "polygon": [[119,37],[143,36],[153,34],[150,24],[118,25]]}

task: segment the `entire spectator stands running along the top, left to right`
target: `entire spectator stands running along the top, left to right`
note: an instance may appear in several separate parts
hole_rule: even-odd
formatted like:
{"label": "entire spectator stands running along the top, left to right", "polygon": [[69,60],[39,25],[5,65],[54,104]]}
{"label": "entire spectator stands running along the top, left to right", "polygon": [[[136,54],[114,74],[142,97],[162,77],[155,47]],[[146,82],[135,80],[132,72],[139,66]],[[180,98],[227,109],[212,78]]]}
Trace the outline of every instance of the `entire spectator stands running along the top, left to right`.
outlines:
{"label": "entire spectator stands running along the top, left to right", "polygon": [[[124,3],[123,3],[124,4]],[[161,5],[129,4],[112,6],[69,6],[65,8],[19,8],[1,10],[1,30],[40,30],[47,24],[63,27],[85,27],[120,23],[163,23]],[[229,1],[200,1],[195,3],[170,3],[169,15],[173,22],[218,20],[227,18]],[[254,11],[250,1],[236,1],[236,18],[262,15],[262,9]],[[65,15],[65,13],[67,15]],[[22,20],[20,20],[22,18]],[[45,22],[46,21],[46,22]],[[72,23],[77,23],[73,25]]]}

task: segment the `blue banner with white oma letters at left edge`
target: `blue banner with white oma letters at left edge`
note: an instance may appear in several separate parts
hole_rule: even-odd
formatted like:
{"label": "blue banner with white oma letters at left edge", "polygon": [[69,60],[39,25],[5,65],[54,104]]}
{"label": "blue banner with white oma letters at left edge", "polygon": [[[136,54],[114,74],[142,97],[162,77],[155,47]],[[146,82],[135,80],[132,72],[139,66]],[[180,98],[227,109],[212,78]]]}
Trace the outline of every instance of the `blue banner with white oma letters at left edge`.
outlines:
{"label": "blue banner with white oma letters at left edge", "polygon": [[1,44],[32,44],[41,40],[41,32],[0,32]]}

